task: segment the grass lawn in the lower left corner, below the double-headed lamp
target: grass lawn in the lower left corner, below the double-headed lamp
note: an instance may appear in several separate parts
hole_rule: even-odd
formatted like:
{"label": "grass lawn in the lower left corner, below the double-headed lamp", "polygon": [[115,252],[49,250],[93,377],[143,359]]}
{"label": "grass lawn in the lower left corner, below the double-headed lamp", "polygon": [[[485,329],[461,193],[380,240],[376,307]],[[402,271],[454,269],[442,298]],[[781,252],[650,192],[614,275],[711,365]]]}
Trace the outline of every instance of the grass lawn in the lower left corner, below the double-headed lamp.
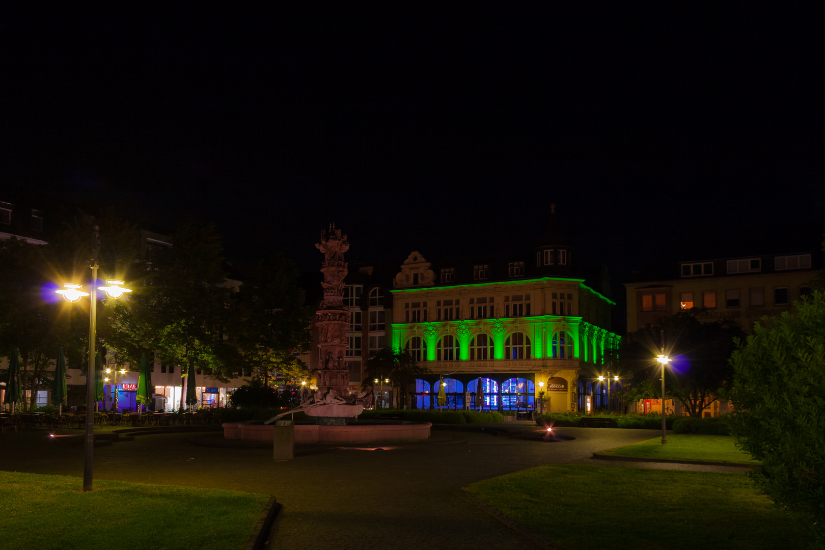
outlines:
{"label": "grass lawn in the lower left corner, below the double-headed lamp", "polygon": [[268,495],[0,472],[0,548],[243,548]]}

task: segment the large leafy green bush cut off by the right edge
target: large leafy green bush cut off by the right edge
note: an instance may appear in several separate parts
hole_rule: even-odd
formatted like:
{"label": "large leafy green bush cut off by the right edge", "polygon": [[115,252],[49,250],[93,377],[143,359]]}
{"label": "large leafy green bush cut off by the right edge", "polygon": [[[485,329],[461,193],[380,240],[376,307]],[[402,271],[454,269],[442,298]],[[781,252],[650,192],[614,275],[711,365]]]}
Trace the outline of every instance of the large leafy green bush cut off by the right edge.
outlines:
{"label": "large leafy green bush cut off by the right edge", "polygon": [[751,472],[766,495],[811,517],[825,536],[825,293],[796,313],[765,317],[733,353],[730,427],[762,461]]}

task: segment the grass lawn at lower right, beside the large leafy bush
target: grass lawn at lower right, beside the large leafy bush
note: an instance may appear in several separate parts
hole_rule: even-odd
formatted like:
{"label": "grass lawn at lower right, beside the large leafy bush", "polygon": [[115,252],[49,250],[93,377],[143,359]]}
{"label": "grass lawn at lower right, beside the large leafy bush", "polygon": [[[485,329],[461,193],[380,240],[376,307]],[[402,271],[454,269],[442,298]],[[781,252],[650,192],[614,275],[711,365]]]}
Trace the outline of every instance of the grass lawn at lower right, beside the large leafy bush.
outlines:
{"label": "grass lawn at lower right, beside the large leafy bush", "polygon": [[808,529],[738,473],[540,466],[464,488],[563,548],[806,548]]}

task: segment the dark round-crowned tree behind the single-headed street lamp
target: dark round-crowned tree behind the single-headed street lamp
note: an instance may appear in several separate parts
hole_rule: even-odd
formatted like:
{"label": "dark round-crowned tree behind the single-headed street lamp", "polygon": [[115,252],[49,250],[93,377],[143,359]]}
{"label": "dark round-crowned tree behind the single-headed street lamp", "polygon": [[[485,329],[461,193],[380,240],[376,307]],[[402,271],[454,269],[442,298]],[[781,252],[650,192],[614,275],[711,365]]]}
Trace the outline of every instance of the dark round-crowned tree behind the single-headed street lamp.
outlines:
{"label": "dark round-crowned tree behind the single-headed street lamp", "polygon": [[[735,350],[733,338],[745,333],[735,322],[700,322],[692,311],[663,317],[655,327],[647,325],[622,339],[617,363],[625,375],[625,393],[645,396],[652,390],[662,397],[660,334],[665,331],[667,355],[672,359],[667,369],[666,392],[683,402],[691,416],[719,398],[720,389],[729,388],[733,368],[728,358]],[[629,376],[628,376],[629,374]],[[640,393],[641,392],[641,393]]]}

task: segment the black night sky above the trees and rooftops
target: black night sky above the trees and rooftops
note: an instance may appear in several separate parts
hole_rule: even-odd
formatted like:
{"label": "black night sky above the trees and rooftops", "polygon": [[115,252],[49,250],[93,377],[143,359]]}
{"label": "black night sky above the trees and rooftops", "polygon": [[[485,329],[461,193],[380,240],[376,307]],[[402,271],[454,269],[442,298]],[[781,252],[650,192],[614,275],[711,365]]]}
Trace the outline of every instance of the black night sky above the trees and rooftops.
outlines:
{"label": "black night sky above the trees and rooftops", "polygon": [[400,262],[529,248],[551,202],[614,282],[821,241],[808,4],[295,3],[3,2],[0,186],[305,270],[332,221]]}

